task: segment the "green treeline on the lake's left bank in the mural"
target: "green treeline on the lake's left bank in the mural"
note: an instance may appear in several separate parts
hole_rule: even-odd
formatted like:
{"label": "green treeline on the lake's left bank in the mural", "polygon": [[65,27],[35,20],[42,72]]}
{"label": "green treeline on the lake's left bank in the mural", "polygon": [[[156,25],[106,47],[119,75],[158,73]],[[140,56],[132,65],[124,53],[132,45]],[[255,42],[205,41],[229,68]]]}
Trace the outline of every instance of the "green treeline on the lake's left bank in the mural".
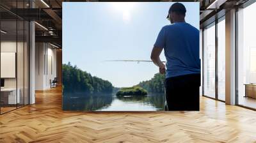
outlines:
{"label": "green treeline on the lake's left bank in the mural", "polygon": [[112,93],[113,86],[108,80],[92,77],[90,73],[84,72],[68,64],[62,64],[63,90],[68,92],[86,93]]}

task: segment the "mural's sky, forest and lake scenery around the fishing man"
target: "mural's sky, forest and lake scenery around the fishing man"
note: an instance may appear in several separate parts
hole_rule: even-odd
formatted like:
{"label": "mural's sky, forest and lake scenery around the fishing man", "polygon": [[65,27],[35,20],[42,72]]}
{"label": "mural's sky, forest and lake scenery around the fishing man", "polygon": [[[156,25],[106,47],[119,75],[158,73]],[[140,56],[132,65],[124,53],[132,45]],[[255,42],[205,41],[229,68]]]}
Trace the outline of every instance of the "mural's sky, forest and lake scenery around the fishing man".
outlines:
{"label": "mural's sky, forest and lake scenery around the fishing man", "polygon": [[[164,110],[165,75],[149,59],[172,4],[63,3],[63,110]],[[183,4],[199,29],[199,3]]]}

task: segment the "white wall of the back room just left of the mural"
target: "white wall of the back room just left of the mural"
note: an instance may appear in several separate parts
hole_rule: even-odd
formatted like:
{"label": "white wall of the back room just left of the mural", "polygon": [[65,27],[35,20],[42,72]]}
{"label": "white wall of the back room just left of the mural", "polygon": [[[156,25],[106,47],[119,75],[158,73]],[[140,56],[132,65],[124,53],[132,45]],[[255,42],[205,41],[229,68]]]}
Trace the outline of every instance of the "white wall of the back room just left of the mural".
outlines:
{"label": "white wall of the back room just left of the mural", "polygon": [[49,89],[50,80],[56,77],[56,49],[49,43],[36,43],[35,47],[35,89]]}

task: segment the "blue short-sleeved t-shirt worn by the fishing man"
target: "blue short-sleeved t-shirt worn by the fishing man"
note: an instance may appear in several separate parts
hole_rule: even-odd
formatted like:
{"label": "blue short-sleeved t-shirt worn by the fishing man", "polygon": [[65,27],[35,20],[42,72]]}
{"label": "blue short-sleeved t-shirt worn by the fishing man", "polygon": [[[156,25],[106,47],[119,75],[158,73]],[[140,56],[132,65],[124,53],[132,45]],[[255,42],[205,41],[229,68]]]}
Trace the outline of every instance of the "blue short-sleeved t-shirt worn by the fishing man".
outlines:
{"label": "blue short-sleeved t-shirt worn by the fishing man", "polygon": [[200,73],[199,31],[186,22],[164,26],[154,47],[164,49],[166,78]]}

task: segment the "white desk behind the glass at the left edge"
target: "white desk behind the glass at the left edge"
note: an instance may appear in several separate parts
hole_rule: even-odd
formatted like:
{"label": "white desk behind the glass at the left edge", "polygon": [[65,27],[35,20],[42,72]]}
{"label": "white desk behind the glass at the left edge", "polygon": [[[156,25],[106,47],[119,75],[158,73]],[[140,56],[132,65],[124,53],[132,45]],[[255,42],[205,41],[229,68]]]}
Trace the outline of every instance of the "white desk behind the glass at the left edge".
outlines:
{"label": "white desk behind the glass at the left edge", "polygon": [[4,104],[16,104],[20,103],[20,89],[17,89],[18,94],[16,97],[16,88],[4,88],[1,89],[1,100],[3,98]]}

